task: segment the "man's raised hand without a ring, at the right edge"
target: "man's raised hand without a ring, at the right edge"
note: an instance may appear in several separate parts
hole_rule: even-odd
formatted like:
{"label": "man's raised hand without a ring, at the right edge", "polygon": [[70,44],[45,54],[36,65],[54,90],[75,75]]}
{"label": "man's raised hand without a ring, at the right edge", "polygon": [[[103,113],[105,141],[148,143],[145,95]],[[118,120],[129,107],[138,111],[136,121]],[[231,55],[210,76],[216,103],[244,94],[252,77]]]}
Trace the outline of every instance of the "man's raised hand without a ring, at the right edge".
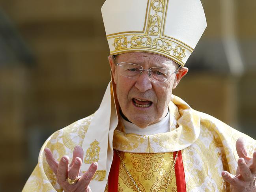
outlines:
{"label": "man's raised hand without a ring, at the right edge", "polygon": [[256,192],[256,151],[248,157],[243,138],[237,140],[235,147],[239,156],[237,171],[235,175],[222,171],[221,175],[230,183],[231,192]]}

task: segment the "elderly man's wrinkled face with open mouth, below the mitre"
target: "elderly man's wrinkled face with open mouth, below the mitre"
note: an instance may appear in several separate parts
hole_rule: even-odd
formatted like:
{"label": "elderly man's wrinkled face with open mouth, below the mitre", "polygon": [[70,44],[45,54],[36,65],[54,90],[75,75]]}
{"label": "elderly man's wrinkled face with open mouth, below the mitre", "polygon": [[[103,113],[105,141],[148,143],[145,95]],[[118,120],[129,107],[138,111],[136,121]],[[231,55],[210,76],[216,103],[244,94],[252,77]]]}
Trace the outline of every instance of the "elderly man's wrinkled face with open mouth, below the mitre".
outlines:
{"label": "elderly man's wrinkled face with open mouth, below the mitre", "polygon": [[116,61],[110,57],[117,99],[125,117],[141,128],[157,123],[168,112],[172,89],[179,81],[176,81],[178,75],[169,74],[166,82],[152,81],[147,71],[138,78],[129,78],[120,74],[121,68],[116,63],[121,62],[141,65],[143,69],[166,68],[170,72],[176,71],[178,65],[164,56],[145,52],[119,54]]}

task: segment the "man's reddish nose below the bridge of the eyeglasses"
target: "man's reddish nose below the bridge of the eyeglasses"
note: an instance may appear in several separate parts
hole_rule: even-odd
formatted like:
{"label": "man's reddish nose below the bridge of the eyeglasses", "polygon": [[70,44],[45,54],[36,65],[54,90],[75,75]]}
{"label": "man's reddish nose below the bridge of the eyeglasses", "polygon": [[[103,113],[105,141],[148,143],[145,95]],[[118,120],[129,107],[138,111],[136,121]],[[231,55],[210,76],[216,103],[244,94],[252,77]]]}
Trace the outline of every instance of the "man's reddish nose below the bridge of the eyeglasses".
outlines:
{"label": "man's reddish nose below the bridge of the eyeglasses", "polygon": [[152,89],[152,84],[148,71],[142,71],[142,74],[137,78],[135,87],[139,89],[139,91],[142,93],[146,92],[149,89]]}

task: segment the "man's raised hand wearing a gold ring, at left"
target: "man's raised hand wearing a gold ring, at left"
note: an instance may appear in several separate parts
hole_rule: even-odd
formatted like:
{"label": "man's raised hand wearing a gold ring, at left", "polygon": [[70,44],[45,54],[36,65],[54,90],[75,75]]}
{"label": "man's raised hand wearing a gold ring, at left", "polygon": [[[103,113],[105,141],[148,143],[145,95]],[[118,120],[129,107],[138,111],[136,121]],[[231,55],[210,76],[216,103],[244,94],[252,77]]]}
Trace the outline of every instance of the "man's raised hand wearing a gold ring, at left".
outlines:
{"label": "man's raised hand wearing a gold ring, at left", "polygon": [[[91,192],[89,183],[97,170],[97,163],[94,162],[89,167],[86,173],[82,174],[80,171],[84,151],[82,147],[77,145],[73,151],[72,162],[69,164],[69,157],[63,156],[58,162],[53,156],[50,149],[45,148],[46,160],[57,177],[57,182],[64,189],[65,192]],[[75,180],[77,182],[70,185],[67,179]]]}

